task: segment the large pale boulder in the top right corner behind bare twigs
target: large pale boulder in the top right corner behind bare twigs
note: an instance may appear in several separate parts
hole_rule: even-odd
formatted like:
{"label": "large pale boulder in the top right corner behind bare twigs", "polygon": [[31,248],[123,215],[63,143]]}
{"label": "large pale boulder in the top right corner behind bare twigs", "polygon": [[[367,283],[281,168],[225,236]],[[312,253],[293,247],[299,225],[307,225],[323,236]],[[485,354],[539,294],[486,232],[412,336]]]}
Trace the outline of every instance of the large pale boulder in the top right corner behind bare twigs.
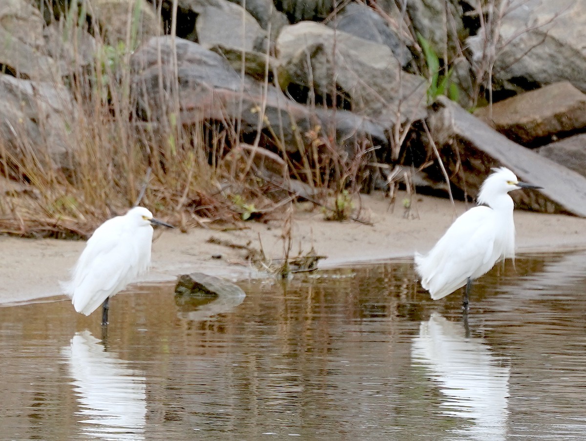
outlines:
{"label": "large pale boulder in the top right corner behind bare twigs", "polygon": [[513,0],[494,26],[495,36],[479,32],[468,44],[479,62],[483,48],[498,42],[492,70],[497,89],[568,80],[586,92],[586,0]]}

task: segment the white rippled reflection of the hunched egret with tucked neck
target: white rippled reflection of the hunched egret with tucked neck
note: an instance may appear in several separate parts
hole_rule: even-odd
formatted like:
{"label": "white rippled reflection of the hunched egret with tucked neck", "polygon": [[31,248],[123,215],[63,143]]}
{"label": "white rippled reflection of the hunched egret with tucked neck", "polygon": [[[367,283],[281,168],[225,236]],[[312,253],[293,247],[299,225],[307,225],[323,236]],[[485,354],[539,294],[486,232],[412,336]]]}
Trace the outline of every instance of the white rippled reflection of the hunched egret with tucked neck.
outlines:
{"label": "white rippled reflection of the hunched egret with tucked neck", "polygon": [[90,331],[76,333],[63,348],[83,416],[85,439],[144,440],[146,378],[106,352]]}

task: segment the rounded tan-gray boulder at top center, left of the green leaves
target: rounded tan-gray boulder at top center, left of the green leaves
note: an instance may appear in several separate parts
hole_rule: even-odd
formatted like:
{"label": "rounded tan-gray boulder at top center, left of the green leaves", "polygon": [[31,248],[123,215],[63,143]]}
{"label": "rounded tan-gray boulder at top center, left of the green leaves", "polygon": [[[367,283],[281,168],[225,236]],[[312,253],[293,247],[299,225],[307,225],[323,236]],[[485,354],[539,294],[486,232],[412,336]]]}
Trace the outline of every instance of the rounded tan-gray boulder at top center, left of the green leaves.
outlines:
{"label": "rounded tan-gray boulder at top center, left of the green leaves", "polygon": [[389,46],[314,22],[286,26],[277,39],[281,89],[315,90],[349,101],[354,113],[385,127],[425,116],[425,80],[401,70]]}

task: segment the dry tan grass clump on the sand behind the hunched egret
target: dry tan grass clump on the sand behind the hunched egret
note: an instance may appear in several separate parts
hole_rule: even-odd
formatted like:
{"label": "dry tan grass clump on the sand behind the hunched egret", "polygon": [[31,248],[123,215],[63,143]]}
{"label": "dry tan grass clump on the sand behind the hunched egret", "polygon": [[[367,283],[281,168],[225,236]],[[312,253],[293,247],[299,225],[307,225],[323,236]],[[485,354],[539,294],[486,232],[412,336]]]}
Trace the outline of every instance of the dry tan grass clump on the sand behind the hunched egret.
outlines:
{"label": "dry tan grass clump on the sand behind the hunched egret", "polygon": [[[100,59],[103,53],[116,59]],[[60,164],[47,146],[25,135],[12,154],[3,149],[0,232],[87,238],[103,220],[134,205],[147,206],[182,230],[236,228],[249,219],[278,218],[300,196],[326,205],[332,194],[347,195],[348,187],[357,191],[366,156],[347,161],[315,135],[312,151],[287,157],[243,143],[234,127],[138,121],[125,54],[98,54],[89,73],[63,79],[74,108],[68,117],[70,150]],[[267,172],[264,158],[280,170]],[[301,189],[291,184],[290,173],[305,183]],[[349,202],[333,206],[333,218],[347,218]]]}

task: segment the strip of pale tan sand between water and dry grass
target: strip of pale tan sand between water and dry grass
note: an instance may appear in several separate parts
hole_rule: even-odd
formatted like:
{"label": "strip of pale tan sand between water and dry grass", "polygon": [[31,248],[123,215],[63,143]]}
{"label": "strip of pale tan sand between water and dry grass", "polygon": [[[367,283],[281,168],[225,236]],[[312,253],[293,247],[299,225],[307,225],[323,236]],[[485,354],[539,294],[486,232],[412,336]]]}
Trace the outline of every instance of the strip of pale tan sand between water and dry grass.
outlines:
{"label": "strip of pale tan sand between water and dry grass", "polygon": [[[471,204],[417,196],[410,211],[403,207],[403,195],[393,206],[382,194],[362,196],[360,216],[372,225],[358,222],[328,222],[318,210],[300,208],[294,217],[294,245],[291,255],[301,248],[314,247],[327,256],[320,267],[333,267],[397,257],[427,251],[442,233]],[[586,248],[586,219],[565,215],[515,212],[517,253]],[[175,280],[178,274],[206,272],[229,279],[260,274],[247,265],[246,252],[210,243],[227,240],[258,249],[259,238],[265,255],[283,256],[282,222],[249,222],[241,230],[220,232],[197,228],[189,233],[157,230],[152,252],[152,270],[145,280]],[[84,242],[0,237],[0,304],[10,304],[62,294],[59,280],[67,279],[69,269],[83,250]],[[218,258],[221,256],[220,258]]]}

